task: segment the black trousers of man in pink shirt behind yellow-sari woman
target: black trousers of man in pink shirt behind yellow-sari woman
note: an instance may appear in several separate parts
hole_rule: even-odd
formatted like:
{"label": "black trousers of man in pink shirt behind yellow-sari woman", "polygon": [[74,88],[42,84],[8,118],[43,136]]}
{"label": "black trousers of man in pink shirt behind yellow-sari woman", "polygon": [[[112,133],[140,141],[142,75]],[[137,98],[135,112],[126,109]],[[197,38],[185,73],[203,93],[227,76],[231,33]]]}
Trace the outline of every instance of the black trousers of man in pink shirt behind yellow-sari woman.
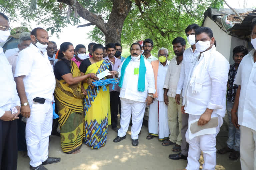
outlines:
{"label": "black trousers of man in pink shirt behind yellow-sari woman", "polygon": [[109,92],[110,94],[110,113],[111,113],[111,126],[112,128],[117,127],[117,115],[118,115],[118,103],[120,92]]}

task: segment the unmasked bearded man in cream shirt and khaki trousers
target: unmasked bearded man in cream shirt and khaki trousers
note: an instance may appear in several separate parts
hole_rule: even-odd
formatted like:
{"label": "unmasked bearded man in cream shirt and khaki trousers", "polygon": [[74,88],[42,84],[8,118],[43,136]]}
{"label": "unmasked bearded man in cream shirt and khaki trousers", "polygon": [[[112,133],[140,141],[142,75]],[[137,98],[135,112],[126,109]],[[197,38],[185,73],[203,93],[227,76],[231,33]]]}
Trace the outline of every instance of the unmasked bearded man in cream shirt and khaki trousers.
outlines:
{"label": "unmasked bearded man in cream shirt and khaki trousers", "polygon": [[[172,41],[173,51],[176,54],[168,69],[168,73],[164,82],[164,102],[168,106],[168,126],[170,130],[169,140],[162,143],[163,146],[174,145],[173,152],[179,152],[181,150],[182,136],[182,114],[181,106],[175,101],[177,84],[180,77],[180,70],[183,63],[183,53],[186,48],[186,41],[182,37],[177,37]],[[177,120],[179,123],[179,133],[177,135]]]}

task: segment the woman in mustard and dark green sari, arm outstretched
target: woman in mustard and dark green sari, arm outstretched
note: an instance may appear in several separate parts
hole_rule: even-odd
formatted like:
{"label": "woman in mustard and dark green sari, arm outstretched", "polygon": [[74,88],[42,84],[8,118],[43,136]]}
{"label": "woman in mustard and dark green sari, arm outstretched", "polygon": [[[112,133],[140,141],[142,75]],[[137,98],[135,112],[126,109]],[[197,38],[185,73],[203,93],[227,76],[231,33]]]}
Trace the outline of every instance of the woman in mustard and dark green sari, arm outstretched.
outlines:
{"label": "woman in mustard and dark green sari, arm outstretched", "polygon": [[59,60],[54,67],[54,96],[60,116],[61,148],[65,153],[75,154],[80,152],[84,129],[83,98],[86,91],[82,81],[98,78],[94,73],[81,75],[75,62],[71,60],[74,56],[72,43],[62,43],[56,56]]}

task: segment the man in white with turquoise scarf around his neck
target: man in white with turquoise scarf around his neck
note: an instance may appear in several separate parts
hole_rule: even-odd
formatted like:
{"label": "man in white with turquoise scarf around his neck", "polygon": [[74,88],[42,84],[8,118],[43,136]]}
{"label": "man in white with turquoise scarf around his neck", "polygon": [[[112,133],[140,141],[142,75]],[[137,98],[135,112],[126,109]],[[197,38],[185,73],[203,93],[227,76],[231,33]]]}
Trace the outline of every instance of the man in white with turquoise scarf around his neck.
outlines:
{"label": "man in white with turquoise scarf around his neck", "polygon": [[154,73],[151,64],[141,55],[139,43],[133,43],[128,56],[119,67],[118,71],[111,71],[112,75],[120,77],[119,87],[121,100],[121,128],[118,136],[113,140],[120,142],[126,138],[126,132],[132,114],[132,145],[138,146],[140,132],[146,104],[153,102],[155,93]]}

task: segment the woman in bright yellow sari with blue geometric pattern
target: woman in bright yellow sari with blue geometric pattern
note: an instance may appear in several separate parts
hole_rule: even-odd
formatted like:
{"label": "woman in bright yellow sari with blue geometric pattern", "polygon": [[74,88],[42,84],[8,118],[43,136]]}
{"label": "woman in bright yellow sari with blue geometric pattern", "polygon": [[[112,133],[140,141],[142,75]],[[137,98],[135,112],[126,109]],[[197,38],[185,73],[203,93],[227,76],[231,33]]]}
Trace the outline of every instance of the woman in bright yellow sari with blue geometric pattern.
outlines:
{"label": "woman in bright yellow sari with blue geometric pattern", "polygon": [[[109,61],[102,58],[104,47],[101,44],[95,44],[92,49],[92,58],[83,60],[80,64],[80,71],[85,74],[99,74],[104,70],[112,71]],[[113,78],[107,76],[106,78]],[[84,99],[85,108],[85,136],[84,143],[91,148],[100,148],[105,146],[107,139],[107,128],[111,124],[110,118],[110,98],[109,87],[103,91],[102,87],[92,86],[93,79],[87,79],[83,83],[87,96]]]}

